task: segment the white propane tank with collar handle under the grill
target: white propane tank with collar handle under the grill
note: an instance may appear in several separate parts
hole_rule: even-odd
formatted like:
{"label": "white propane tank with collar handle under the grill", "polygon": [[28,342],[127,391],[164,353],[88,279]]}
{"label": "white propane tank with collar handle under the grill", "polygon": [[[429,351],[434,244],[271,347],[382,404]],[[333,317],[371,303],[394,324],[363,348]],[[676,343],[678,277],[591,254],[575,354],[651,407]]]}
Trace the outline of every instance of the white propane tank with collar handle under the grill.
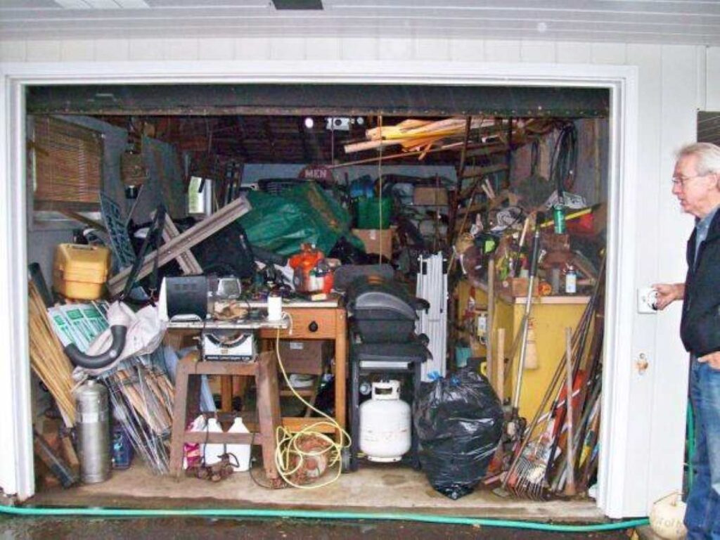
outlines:
{"label": "white propane tank with collar handle under the grill", "polygon": [[400,381],[372,383],[360,405],[360,451],[372,462],[399,462],[410,450],[410,405],[400,400]]}

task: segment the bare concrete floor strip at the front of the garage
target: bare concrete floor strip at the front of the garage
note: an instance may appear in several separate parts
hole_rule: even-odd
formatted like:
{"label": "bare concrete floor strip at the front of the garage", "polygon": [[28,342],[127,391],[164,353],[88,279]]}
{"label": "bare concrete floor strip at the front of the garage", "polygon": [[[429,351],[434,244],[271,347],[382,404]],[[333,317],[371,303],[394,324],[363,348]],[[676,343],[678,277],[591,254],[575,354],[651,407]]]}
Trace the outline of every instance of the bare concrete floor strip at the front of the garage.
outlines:
{"label": "bare concrete floor strip at the front of the garage", "polygon": [[[253,476],[264,482],[261,469]],[[422,472],[408,467],[361,467],[316,490],[268,490],[248,473],[227,480],[154,476],[135,464],[115,471],[107,482],[69,490],[41,492],[28,501],[37,506],[114,506],[123,508],[282,508],[383,513],[431,513],[446,516],[505,518],[529,521],[591,523],[605,521],[593,500],[535,502],[500,498],[487,487],[451,500],[439,494]]]}

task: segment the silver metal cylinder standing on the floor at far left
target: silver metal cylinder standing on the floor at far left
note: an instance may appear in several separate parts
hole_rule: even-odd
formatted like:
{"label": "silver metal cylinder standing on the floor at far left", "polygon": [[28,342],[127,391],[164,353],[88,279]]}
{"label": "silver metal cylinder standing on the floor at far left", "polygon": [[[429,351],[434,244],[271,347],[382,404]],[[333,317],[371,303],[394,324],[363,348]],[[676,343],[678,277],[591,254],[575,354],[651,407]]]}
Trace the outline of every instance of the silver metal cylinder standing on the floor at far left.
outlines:
{"label": "silver metal cylinder standing on the floor at far left", "polygon": [[89,380],[75,391],[80,479],[86,484],[110,476],[110,425],[107,388]]}

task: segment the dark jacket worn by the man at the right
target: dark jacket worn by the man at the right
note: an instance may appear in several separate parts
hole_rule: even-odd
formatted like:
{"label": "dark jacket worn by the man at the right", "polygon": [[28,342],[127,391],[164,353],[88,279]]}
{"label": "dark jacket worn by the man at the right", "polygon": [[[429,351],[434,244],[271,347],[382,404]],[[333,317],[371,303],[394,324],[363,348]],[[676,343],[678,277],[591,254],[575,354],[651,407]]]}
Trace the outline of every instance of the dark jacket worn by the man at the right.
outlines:
{"label": "dark jacket worn by the man at the right", "polygon": [[720,351],[720,211],[710,223],[708,236],[698,248],[695,264],[695,237],[688,240],[688,276],[685,278],[683,320],[680,338],[695,356]]}

